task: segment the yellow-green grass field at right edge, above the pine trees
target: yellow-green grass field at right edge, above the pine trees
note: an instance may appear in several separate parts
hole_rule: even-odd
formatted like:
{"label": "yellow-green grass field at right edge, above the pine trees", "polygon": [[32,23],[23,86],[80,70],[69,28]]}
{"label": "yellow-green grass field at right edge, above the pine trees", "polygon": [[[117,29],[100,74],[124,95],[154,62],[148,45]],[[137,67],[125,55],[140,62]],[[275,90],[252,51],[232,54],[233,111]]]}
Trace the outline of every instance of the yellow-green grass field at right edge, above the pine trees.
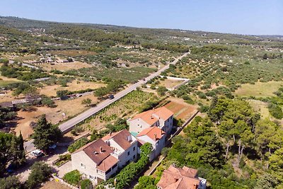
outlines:
{"label": "yellow-green grass field at right edge, above the pine trees", "polygon": [[283,86],[283,81],[269,81],[269,82],[257,82],[253,84],[242,84],[241,88],[235,91],[238,96],[255,96],[255,97],[267,97],[275,96],[273,92]]}

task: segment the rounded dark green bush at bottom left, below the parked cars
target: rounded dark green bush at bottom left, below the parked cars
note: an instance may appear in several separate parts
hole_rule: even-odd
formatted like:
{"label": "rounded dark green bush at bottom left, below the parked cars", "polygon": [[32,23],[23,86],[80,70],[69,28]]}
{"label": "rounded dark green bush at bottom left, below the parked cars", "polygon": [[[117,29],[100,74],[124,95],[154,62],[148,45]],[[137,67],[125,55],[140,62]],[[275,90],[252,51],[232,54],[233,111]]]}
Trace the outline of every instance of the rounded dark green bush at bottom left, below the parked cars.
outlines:
{"label": "rounded dark green bush at bottom left, below the parked cars", "polygon": [[36,188],[40,183],[43,183],[50,178],[52,169],[43,161],[37,161],[31,166],[31,172],[28,176],[26,184],[28,188]]}

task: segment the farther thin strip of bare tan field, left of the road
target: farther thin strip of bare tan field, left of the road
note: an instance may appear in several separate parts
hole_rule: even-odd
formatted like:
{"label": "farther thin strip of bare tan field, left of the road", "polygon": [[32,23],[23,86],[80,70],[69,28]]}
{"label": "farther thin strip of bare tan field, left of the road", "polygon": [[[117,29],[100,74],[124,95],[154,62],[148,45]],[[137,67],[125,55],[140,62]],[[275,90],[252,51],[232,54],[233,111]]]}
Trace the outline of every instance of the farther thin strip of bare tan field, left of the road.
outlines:
{"label": "farther thin strip of bare tan field, left of the road", "polygon": [[81,68],[88,68],[93,67],[91,64],[87,64],[86,62],[67,62],[67,63],[54,63],[52,64],[40,64],[38,67],[42,67],[47,71],[51,71],[52,69],[57,69],[60,71],[67,71],[70,69],[81,69]]}

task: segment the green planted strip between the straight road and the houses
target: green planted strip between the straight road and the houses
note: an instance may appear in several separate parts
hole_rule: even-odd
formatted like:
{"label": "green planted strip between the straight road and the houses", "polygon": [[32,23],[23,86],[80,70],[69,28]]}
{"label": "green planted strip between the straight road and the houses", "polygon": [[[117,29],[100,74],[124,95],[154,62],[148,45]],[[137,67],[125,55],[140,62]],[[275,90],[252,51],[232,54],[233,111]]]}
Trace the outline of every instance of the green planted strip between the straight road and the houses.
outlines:
{"label": "green planted strip between the straight road and the houses", "polygon": [[132,91],[119,101],[108,105],[107,108],[101,110],[90,120],[86,120],[82,127],[100,130],[106,124],[115,122],[118,118],[131,118],[136,113],[139,113],[141,105],[144,105],[148,101],[156,100],[158,98],[153,93]]}

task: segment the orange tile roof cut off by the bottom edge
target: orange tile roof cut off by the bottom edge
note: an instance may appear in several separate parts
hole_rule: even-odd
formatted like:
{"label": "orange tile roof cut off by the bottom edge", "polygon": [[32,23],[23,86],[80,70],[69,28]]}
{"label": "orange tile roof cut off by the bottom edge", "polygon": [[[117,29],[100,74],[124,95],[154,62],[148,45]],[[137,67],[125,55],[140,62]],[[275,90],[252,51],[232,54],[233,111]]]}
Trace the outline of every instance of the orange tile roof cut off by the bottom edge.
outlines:
{"label": "orange tile roof cut off by the bottom edge", "polygon": [[163,171],[157,186],[161,189],[197,189],[200,180],[195,178],[197,170],[184,166],[183,168],[175,168],[170,166]]}

